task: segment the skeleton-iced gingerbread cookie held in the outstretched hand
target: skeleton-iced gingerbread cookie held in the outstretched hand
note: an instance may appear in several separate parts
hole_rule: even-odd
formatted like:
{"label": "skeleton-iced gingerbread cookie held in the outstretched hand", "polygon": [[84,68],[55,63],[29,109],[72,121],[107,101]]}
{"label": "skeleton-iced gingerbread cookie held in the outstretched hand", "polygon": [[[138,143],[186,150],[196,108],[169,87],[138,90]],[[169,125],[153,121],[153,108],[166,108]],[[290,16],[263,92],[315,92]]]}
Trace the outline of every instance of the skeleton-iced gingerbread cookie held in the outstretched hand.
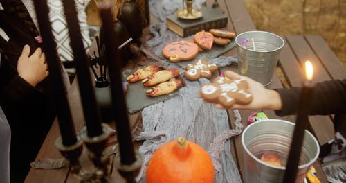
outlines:
{"label": "skeleton-iced gingerbread cookie held in the outstretched hand", "polygon": [[221,76],[201,87],[201,97],[207,102],[219,103],[224,107],[232,107],[235,103],[247,105],[253,99],[244,78],[230,80]]}

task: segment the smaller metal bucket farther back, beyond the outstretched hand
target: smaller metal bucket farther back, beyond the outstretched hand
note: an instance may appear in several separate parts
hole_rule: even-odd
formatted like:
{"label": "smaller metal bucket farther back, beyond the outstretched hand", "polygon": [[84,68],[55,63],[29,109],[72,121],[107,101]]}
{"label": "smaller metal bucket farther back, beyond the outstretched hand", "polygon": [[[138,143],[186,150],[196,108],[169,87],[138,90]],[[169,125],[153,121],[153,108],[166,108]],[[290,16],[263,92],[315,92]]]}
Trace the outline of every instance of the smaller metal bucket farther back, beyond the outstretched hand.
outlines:
{"label": "smaller metal bucket farther back, beyond the outstretched hand", "polygon": [[235,37],[239,73],[266,86],[271,83],[284,40],[264,31],[248,31]]}

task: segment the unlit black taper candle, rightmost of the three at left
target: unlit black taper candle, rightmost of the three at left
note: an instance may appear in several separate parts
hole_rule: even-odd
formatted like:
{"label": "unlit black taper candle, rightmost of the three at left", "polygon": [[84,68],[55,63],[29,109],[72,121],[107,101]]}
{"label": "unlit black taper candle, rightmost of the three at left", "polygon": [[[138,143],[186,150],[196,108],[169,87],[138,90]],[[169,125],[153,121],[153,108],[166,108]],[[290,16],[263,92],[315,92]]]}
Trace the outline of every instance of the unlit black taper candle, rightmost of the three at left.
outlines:
{"label": "unlit black taper candle, rightmost of the three at left", "polygon": [[120,54],[116,48],[116,45],[119,44],[117,42],[118,40],[116,40],[116,33],[113,30],[111,3],[99,2],[98,7],[100,8],[102,26],[104,27],[104,37],[107,37],[107,39],[104,39],[104,45],[107,64],[109,64],[111,98],[113,103],[112,111],[116,121],[120,159],[122,164],[129,165],[136,161],[136,157],[134,155],[134,146],[132,144],[125,96],[122,91]]}

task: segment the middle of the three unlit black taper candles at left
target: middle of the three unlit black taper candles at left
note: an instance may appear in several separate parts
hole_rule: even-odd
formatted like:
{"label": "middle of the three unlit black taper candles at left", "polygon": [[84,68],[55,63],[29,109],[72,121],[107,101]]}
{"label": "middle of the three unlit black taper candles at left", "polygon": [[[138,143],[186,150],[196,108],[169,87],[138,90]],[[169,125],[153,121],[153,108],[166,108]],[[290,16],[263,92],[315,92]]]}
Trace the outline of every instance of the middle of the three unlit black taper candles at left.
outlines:
{"label": "middle of the three unlit black taper candles at left", "polygon": [[71,48],[75,60],[75,69],[80,87],[80,97],[84,111],[84,119],[88,137],[96,137],[102,134],[102,125],[98,111],[95,92],[91,82],[88,58],[82,41],[80,25],[75,10],[75,1],[63,0],[64,13],[66,16]]}

